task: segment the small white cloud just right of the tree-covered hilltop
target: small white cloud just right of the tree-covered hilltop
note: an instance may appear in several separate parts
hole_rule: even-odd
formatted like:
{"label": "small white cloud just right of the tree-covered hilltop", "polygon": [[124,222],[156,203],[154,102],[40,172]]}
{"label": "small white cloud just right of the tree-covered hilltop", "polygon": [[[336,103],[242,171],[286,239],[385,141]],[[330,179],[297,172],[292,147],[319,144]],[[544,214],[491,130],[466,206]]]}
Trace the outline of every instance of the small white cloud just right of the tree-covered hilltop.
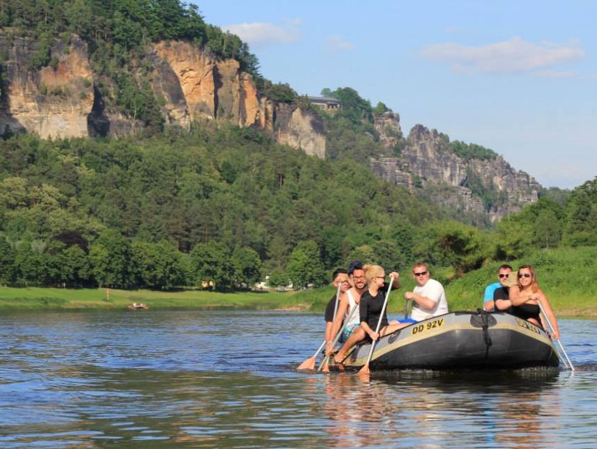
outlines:
{"label": "small white cloud just right of the tree-covered hilltop", "polygon": [[222,29],[234,33],[236,36],[254,47],[274,44],[293,44],[300,38],[298,26],[300,19],[295,19],[284,25],[274,25],[268,22],[254,22],[251,24],[233,24],[222,26]]}

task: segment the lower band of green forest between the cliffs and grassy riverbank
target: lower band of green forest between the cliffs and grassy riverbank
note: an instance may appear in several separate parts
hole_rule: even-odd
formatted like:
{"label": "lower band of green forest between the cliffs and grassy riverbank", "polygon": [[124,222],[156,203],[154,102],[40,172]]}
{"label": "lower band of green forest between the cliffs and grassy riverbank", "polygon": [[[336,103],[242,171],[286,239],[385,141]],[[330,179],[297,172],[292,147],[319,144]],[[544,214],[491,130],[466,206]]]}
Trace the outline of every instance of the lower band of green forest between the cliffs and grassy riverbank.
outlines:
{"label": "lower band of green forest between the cliffs and grassy riverbank", "polygon": [[[597,180],[542,198],[495,231],[442,218],[348,160],[321,161],[253,129],[191,136],[0,142],[3,282],[226,290],[272,275],[322,284],[351,258],[452,274],[483,260],[597,244]],[[447,275],[449,276],[449,275]]]}

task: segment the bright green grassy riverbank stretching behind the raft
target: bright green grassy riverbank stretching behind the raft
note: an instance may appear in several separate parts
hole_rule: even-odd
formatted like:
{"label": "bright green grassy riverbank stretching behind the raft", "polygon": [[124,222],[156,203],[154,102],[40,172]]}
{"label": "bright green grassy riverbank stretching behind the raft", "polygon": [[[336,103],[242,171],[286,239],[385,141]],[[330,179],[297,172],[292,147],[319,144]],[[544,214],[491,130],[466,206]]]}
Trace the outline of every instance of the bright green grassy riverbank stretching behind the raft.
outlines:
{"label": "bright green grassy riverbank stretching behind the raft", "polygon": [[[536,267],[538,280],[558,316],[597,317],[597,249],[543,250],[515,260],[516,269],[523,263]],[[432,276],[447,284],[450,310],[474,310],[481,306],[483,289],[496,279],[499,263],[493,263],[450,283],[442,272]],[[403,294],[414,287],[409,276],[401,276],[403,286],[392,292],[390,313],[403,313]],[[150,308],[239,308],[247,310],[311,310],[322,311],[334,288],[301,292],[217,293],[202,290],[162,292],[152,290],[14,288],[0,287],[0,310],[35,309],[125,309],[133,302]]]}

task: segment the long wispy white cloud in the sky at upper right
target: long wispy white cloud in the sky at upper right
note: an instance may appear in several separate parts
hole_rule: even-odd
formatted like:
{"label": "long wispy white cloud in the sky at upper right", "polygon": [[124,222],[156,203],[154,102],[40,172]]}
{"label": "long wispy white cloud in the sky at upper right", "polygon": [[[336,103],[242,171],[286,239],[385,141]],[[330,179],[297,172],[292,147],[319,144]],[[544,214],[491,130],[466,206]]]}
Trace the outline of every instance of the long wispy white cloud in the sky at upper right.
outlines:
{"label": "long wispy white cloud in the sky at upper right", "polygon": [[552,67],[584,58],[580,42],[535,44],[514,37],[504,42],[469,47],[454,43],[429,45],[421,54],[439,63],[447,63],[460,72],[516,73]]}

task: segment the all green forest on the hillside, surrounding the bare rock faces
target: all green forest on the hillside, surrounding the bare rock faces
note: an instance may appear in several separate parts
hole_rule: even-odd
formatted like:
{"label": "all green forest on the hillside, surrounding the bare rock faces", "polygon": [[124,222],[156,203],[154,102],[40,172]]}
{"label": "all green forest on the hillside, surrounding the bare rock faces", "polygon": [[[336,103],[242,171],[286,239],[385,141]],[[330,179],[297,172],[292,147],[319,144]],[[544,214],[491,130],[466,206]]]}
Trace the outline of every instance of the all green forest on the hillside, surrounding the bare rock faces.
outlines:
{"label": "all green forest on the hillside, surrounding the bare rock faces", "polygon": [[[233,290],[270,276],[274,286],[304,287],[323,285],[353,258],[402,270],[426,260],[449,279],[538,248],[597,244],[597,179],[569,197],[546,192],[495,228],[465,224],[474,220],[431,205],[416,176],[411,193],[370,171],[371,157],[401,155],[408,143],[399,128],[380,127],[389,113],[384,104],[371,107],[355,90],[338,88],[324,93],[341,100],[342,111],[316,111],[290,86],[263,79],[238,37],[178,0],[7,0],[0,26],[38,40],[30,70],[52,66],[53,40],[82,36],[97,75],[93,88],[146,125],[123,139],[3,134],[2,283],[171,288],[213,281],[217,290]],[[226,120],[196,120],[190,132],[166,126],[137,59],[160,39],[234,58],[260,95],[319,114],[327,159]],[[480,145],[437,138],[462,160],[497,157]],[[473,175],[467,181],[488,205],[508,201]]]}

